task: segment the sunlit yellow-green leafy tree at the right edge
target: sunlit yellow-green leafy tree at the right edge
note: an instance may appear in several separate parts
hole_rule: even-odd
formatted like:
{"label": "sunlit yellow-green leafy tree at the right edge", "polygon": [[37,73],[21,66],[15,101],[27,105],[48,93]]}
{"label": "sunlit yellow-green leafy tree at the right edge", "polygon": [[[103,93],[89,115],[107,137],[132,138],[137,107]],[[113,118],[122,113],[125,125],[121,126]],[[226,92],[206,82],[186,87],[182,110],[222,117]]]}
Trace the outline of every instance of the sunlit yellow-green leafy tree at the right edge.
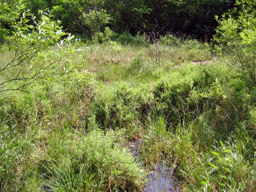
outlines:
{"label": "sunlit yellow-green leafy tree at the right edge", "polygon": [[[216,51],[228,59],[228,64],[245,75],[249,75],[253,86],[256,85],[256,2],[237,1],[243,9],[238,17],[223,15],[217,20],[219,26],[214,40]],[[238,10],[238,9],[236,9]]]}

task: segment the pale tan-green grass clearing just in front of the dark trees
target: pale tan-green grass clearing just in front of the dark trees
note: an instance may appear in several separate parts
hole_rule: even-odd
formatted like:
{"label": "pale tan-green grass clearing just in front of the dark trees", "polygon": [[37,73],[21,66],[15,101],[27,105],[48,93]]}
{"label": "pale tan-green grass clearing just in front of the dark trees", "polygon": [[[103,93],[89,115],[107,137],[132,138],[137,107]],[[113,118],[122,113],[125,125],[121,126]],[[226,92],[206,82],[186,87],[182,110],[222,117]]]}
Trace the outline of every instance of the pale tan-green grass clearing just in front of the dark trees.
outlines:
{"label": "pale tan-green grass clearing just in front of the dark trees", "polygon": [[[79,57],[72,60],[104,82],[131,80],[151,77],[151,72],[159,67],[174,66],[184,60],[211,60],[207,47],[197,41],[181,42],[179,48],[161,44],[161,65],[156,63],[156,47],[151,43],[145,46],[121,45],[115,41],[104,44],[89,44]],[[200,54],[198,54],[200,52]],[[140,67],[139,67],[140,66]],[[138,69],[138,67],[140,69]],[[143,77],[140,77],[143,76]]]}

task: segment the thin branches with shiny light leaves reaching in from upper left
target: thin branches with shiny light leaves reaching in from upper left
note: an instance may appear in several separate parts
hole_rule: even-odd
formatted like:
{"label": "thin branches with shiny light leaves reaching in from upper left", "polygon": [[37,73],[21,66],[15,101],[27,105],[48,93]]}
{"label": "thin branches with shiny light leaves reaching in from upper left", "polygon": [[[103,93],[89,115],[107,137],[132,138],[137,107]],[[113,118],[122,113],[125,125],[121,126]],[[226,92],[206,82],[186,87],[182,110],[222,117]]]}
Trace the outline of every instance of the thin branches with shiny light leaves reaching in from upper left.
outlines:
{"label": "thin branches with shiny light leaves reaching in from upper left", "polygon": [[[7,14],[7,16],[12,15],[13,9],[10,5],[14,6],[15,4],[8,4],[5,7],[0,4],[0,12],[9,11],[10,14]],[[20,1],[20,6],[19,10],[24,10],[23,1]],[[60,63],[61,59],[74,51],[70,46],[73,36],[63,32],[60,22],[55,22],[51,19],[50,12],[40,11],[39,13],[39,21],[28,11],[20,15],[13,14],[12,19],[10,19],[15,22],[9,22],[11,30],[9,33],[4,34],[4,39],[9,44],[8,51],[10,55],[14,55],[0,65],[0,92],[10,90],[24,91],[25,87],[35,83],[37,80],[53,76],[54,72],[49,74],[49,68],[56,63]],[[31,17],[33,25],[28,24],[27,14]],[[8,20],[3,16],[0,19]],[[1,29],[4,29],[4,27],[1,26]],[[67,37],[63,38],[64,35]],[[61,72],[57,73],[57,75],[60,74]],[[8,84],[12,82],[15,82],[15,88],[12,86],[9,89]]]}

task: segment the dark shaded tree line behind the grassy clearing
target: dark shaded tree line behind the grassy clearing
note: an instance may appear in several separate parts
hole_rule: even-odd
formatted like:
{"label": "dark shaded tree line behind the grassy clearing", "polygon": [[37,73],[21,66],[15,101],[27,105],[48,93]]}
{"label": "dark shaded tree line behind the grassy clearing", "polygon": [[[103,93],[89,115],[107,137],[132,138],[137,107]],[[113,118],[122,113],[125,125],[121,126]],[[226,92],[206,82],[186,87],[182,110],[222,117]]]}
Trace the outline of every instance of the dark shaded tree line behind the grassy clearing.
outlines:
{"label": "dark shaded tree line behind the grassy clearing", "polygon": [[90,36],[110,27],[116,33],[178,33],[209,39],[235,0],[28,0],[34,13],[49,8],[72,33]]}

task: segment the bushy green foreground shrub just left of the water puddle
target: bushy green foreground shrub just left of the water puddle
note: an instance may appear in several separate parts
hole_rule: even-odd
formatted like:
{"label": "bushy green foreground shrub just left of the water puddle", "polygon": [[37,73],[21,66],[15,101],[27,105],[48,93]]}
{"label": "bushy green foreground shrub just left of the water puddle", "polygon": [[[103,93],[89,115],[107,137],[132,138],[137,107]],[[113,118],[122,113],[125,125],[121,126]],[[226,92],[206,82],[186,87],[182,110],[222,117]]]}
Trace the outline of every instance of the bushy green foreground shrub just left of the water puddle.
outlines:
{"label": "bushy green foreground shrub just left of the water puddle", "polygon": [[118,142],[120,133],[98,130],[79,143],[66,141],[69,155],[63,154],[60,165],[47,166],[46,186],[53,191],[141,191],[144,172]]}

